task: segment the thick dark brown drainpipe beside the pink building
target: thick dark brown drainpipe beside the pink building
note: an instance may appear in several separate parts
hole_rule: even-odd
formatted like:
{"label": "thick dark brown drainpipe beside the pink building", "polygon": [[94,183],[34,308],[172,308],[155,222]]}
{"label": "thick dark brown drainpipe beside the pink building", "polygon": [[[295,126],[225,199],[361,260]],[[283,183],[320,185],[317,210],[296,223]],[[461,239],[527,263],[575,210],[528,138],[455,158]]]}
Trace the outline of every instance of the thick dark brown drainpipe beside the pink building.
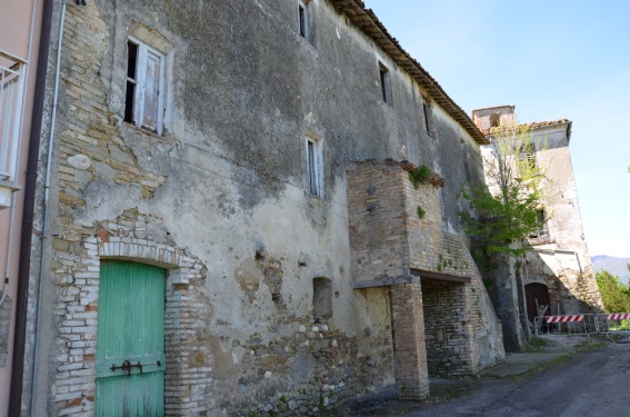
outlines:
{"label": "thick dark brown drainpipe beside the pink building", "polygon": [[20,236],[20,258],[18,272],[18,295],[16,298],[16,331],[13,335],[13,360],[11,367],[11,391],[9,396],[9,416],[20,416],[22,403],[22,383],[24,370],[24,346],[27,336],[27,305],[31,264],[31,242],[33,234],[33,212],[36,202],[37,166],[46,96],[46,72],[50,46],[53,0],[43,0],[41,33],[39,42],[36,89],[33,98],[31,133],[24,186],[24,208]]}

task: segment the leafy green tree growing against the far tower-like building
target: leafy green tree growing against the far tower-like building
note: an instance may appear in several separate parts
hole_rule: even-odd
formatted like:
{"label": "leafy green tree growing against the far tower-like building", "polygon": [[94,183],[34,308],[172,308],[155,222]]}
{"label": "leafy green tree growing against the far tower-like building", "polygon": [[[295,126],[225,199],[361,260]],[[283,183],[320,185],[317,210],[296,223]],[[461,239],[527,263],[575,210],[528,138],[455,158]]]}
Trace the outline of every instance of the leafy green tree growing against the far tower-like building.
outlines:
{"label": "leafy green tree growing against the far tower-like building", "polygon": [[540,212],[550,197],[546,169],[536,161],[536,150],[544,143],[533,141],[531,127],[492,128],[491,147],[483,157],[488,183],[464,183],[461,191],[472,210],[460,215],[482,265],[488,265],[493,254],[522,256],[528,248],[520,244],[542,226]]}

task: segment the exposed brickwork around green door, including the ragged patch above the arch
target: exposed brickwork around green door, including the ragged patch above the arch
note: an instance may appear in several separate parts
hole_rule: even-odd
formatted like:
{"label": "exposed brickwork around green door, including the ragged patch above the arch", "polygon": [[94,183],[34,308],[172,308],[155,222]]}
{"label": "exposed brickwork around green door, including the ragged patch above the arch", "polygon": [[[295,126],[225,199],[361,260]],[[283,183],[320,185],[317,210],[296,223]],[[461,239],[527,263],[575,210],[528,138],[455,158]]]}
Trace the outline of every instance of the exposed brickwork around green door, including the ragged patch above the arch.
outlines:
{"label": "exposed brickwork around green door, including the ragged patch above the arch", "polygon": [[[207,307],[200,302],[206,268],[168,240],[147,239],[147,227],[157,222],[158,219],[129,210],[97,225],[93,237],[81,239],[80,250],[56,255],[60,264],[56,275],[61,277],[58,285],[63,297],[54,309],[59,317],[57,346],[60,348],[56,360],[60,373],[56,375],[52,393],[60,415],[93,409],[100,259],[124,259],[168,269],[166,408],[170,415],[189,415],[204,405],[212,368],[209,358],[196,354],[208,342],[201,331],[208,326],[202,314]],[[62,244],[63,240],[58,240],[57,247]],[[196,356],[196,361],[187,360],[190,356]]]}

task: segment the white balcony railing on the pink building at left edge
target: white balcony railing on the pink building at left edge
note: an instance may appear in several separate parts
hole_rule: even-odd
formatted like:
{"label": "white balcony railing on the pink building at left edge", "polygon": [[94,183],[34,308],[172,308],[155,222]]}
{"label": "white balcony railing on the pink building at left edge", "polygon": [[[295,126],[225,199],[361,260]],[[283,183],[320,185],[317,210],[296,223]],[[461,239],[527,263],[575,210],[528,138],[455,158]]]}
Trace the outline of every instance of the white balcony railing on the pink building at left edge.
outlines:
{"label": "white balcony railing on the pink building at left edge", "polygon": [[17,181],[27,62],[0,50],[0,181]]}

